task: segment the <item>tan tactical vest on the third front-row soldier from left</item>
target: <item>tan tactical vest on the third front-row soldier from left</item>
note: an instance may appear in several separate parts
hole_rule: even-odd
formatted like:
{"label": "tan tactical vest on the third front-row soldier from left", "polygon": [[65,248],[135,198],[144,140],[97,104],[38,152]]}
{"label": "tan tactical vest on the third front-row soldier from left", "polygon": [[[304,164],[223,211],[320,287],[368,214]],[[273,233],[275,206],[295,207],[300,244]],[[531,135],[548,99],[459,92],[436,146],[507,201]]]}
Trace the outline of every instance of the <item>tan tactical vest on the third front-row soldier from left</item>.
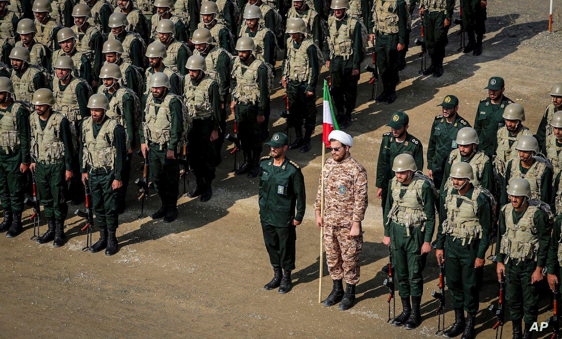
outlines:
{"label": "tan tactical vest on the third front-row soldier from left", "polygon": [[95,138],[93,124],[92,117],[85,118],[82,123],[82,141],[84,143],[82,163],[88,164],[90,171],[93,169],[112,170],[115,167],[117,155],[114,131],[119,123],[115,119],[106,119]]}

